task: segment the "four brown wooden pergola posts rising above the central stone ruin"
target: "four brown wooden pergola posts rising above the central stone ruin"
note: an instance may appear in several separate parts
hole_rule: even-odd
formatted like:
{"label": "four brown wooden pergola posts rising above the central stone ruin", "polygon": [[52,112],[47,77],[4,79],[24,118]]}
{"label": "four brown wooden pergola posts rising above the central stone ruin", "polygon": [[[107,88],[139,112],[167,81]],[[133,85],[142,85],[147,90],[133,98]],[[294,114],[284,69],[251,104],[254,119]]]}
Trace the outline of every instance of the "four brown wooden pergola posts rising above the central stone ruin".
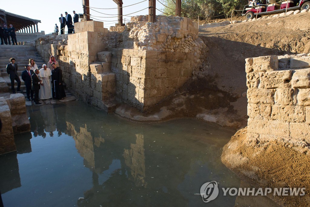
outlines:
{"label": "four brown wooden pergola posts rising above the central stone ruin", "polygon": [[[116,26],[124,26],[123,23],[123,0],[113,0],[117,4],[117,16],[118,22]],[[175,15],[181,16],[181,2],[182,0],[175,1]],[[86,21],[90,21],[90,13],[89,13],[89,0],[83,0],[83,11],[84,11],[84,19]],[[155,22],[156,21],[156,0],[148,0],[148,21]]]}

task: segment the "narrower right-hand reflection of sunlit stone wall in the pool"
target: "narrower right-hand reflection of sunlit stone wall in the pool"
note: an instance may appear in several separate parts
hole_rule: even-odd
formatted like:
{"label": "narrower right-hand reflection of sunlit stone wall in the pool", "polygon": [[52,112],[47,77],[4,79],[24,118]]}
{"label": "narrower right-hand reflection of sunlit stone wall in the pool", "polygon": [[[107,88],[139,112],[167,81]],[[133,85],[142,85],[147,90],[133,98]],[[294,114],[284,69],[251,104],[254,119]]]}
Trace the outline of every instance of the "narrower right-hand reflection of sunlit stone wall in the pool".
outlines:
{"label": "narrower right-hand reflection of sunlit stone wall in the pool", "polygon": [[129,179],[134,181],[136,186],[145,187],[144,137],[142,134],[137,134],[136,137],[136,143],[130,145],[130,150],[124,151],[125,164],[131,169]]}

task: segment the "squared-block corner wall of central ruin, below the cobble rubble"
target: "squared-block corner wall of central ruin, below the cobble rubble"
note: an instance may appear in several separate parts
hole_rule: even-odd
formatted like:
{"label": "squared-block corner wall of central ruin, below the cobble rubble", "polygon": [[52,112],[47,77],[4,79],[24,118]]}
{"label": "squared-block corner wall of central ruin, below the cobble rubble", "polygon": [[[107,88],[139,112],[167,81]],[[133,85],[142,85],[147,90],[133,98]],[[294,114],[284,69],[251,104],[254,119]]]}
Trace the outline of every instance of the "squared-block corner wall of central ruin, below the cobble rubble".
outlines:
{"label": "squared-block corner wall of central ruin, below the cobble rubble", "polygon": [[112,49],[119,101],[147,109],[182,86],[193,72],[192,53]]}

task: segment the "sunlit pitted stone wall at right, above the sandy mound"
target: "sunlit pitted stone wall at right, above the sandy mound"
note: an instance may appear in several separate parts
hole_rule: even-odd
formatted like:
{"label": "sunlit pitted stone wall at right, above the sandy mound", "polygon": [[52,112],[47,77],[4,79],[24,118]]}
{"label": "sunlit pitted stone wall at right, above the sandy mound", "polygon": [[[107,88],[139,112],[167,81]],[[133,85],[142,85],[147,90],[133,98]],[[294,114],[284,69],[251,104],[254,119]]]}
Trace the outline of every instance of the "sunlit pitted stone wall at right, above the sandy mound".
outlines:
{"label": "sunlit pitted stone wall at right, above the sandy mound", "polygon": [[246,59],[250,140],[310,143],[310,57]]}

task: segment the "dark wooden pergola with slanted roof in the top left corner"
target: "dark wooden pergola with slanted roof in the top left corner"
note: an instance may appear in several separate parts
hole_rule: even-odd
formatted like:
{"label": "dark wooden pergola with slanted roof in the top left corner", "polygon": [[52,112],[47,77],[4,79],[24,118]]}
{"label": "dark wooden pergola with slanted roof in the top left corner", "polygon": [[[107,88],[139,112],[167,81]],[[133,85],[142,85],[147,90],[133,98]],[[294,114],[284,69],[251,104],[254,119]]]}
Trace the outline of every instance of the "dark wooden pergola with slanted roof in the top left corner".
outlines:
{"label": "dark wooden pergola with slanted roof in the top left corner", "polygon": [[8,27],[10,24],[13,25],[17,32],[33,33],[39,32],[38,23],[41,23],[41,20],[30,19],[0,9],[0,22]]}

